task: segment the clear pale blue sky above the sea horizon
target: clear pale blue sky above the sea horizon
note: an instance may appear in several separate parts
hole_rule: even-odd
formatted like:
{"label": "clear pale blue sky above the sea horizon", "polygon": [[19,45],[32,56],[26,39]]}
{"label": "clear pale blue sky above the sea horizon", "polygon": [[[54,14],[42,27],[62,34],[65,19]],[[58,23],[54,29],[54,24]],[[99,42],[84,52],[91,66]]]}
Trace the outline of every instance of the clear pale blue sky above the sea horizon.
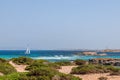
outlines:
{"label": "clear pale blue sky above the sea horizon", "polygon": [[120,0],[0,0],[0,49],[120,49]]}

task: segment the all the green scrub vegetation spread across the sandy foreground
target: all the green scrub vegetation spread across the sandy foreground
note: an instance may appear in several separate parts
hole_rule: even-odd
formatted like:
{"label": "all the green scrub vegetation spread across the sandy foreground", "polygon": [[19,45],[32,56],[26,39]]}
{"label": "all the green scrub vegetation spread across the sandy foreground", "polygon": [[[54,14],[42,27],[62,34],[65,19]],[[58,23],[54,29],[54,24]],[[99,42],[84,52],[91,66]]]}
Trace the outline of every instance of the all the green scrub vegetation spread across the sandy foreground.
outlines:
{"label": "all the green scrub vegetation spread across the sandy foreground", "polygon": [[[120,68],[114,66],[89,64],[84,60],[75,60],[74,62],[61,61],[49,62],[46,60],[33,60],[27,57],[19,57],[11,59],[18,65],[28,65],[26,70],[29,72],[18,73],[7,60],[0,59],[0,72],[4,76],[0,76],[0,80],[82,80],[72,74],[89,74],[89,73],[110,73],[110,75],[120,75]],[[71,74],[63,74],[58,72],[61,66],[77,65],[72,69]],[[107,80],[104,77],[99,80]]]}

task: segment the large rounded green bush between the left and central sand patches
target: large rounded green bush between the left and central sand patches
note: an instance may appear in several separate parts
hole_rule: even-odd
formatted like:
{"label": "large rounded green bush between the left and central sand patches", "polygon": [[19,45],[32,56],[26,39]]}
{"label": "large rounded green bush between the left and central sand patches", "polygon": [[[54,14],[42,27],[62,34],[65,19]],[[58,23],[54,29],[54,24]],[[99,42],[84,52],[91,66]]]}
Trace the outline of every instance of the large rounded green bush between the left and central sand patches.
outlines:
{"label": "large rounded green bush between the left and central sand patches", "polygon": [[80,78],[73,77],[72,75],[62,74],[51,67],[39,67],[32,69],[27,74],[28,77],[37,77],[38,80],[54,80],[56,78],[56,75],[57,78],[60,78],[60,80],[81,80]]}

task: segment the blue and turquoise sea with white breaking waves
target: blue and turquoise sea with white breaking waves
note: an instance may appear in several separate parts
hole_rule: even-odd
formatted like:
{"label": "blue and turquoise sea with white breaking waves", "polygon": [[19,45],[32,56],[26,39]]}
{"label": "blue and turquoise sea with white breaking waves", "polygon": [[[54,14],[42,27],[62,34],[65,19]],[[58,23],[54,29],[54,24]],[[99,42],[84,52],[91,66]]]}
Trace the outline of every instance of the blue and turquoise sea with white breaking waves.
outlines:
{"label": "blue and turquoise sea with white breaking waves", "polygon": [[[107,52],[106,56],[84,56],[76,55],[82,51],[74,50],[31,50],[30,54],[25,54],[25,50],[0,50],[0,58],[11,59],[21,56],[30,57],[32,59],[45,59],[51,62],[56,61],[73,61],[76,59],[89,60],[94,58],[120,58],[120,52]],[[101,52],[98,52],[100,54]]]}

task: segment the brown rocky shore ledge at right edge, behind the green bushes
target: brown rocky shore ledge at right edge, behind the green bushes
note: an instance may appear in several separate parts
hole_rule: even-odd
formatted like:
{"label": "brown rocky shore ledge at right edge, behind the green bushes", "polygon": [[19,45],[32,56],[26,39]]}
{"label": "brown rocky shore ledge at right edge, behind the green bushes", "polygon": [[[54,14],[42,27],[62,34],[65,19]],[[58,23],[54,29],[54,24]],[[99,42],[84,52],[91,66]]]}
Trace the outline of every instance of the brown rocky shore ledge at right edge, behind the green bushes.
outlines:
{"label": "brown rocky shore ledge at right edge, behind the green bushes", "polygon": [[120,59],[96,58],[96,59],[90,59],[89,63],[120,66]]}

